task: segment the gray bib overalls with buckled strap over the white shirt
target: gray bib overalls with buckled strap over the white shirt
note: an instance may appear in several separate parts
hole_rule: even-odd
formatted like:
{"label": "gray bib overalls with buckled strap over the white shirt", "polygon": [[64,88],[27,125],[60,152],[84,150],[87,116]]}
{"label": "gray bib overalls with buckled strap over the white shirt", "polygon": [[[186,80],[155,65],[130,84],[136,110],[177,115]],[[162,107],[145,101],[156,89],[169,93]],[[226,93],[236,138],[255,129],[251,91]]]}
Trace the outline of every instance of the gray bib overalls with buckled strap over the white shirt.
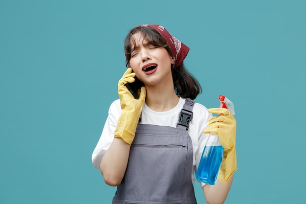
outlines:
{"label": "gray bib overalls with buckled strap over the white shirt", "polygon": [[138,124],[113,204],[197,204],[187,132],[194,103],[186,99],[176,128]]}

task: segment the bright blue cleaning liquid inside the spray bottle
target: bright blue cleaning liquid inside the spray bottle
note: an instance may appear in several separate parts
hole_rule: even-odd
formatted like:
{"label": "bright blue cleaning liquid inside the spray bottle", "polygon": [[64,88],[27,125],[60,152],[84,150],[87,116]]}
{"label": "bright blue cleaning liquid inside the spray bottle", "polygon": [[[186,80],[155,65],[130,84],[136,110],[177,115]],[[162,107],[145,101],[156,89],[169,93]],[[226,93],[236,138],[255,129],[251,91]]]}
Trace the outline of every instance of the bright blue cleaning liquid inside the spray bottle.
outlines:
{"label": "bright blue cleaning liquid inside the spray bottle", "polygon": [[197,168],[197,180],[214,185],[218,178],[222,157],[222,146],[205,146]]}

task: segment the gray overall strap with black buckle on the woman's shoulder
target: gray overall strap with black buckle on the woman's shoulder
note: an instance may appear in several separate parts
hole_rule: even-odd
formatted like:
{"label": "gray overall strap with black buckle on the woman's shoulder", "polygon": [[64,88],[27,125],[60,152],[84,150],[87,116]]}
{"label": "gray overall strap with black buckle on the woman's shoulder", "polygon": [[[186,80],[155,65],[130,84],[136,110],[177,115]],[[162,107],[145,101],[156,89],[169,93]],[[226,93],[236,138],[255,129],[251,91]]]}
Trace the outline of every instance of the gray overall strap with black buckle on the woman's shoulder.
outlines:
{"label": "gray overall strap with black buckle on the woman's shoulder", "polygon": [[181,130],[188,130],[189,123],[192,120],[193,112],[192,109],[194,108],[195,101],[186,98],[185,104],[179,113],[178,122],[176,124],[176,128]]}

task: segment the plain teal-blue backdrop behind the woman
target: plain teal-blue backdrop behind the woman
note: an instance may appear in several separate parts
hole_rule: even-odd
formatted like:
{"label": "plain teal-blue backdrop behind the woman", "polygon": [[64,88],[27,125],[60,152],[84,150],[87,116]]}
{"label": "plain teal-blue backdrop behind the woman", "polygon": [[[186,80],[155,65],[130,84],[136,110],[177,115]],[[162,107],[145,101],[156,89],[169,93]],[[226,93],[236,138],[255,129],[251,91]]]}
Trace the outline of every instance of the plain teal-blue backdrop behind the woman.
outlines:
{"label": "plain teal-blue backdrop behind the woman", "polygon": [[0,203],[111,202],[91,153],[118,98],[123,40],[150,23],[191,48],[197,102],[234,102],[239,170],[225,203],[305,204],[305,20],[304,0],[1,0]]}

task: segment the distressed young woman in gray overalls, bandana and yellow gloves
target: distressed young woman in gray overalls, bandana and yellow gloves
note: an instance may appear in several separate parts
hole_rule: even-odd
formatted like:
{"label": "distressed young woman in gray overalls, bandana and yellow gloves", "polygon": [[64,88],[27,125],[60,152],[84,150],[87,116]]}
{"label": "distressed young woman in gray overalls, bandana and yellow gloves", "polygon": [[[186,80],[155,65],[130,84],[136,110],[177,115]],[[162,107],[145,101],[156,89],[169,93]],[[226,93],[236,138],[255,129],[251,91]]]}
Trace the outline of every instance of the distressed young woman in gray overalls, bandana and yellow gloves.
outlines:
{"label": "distressed young woman in gray overalls, bandana and yellow gloves", "polygon": [[[117,186],[113,204],[196,204],[194,175],[216,135],[224,148],[219,178],[201,186],[207,203],[223,203],[237,170],[234,116],[195,103],[201,88],[183,64],[189,48],[164,27],[137,26],[124,46],[129,68],[92,154],[105,182]],[[138,99],[125,86],[135,75],[144,83]]]}

